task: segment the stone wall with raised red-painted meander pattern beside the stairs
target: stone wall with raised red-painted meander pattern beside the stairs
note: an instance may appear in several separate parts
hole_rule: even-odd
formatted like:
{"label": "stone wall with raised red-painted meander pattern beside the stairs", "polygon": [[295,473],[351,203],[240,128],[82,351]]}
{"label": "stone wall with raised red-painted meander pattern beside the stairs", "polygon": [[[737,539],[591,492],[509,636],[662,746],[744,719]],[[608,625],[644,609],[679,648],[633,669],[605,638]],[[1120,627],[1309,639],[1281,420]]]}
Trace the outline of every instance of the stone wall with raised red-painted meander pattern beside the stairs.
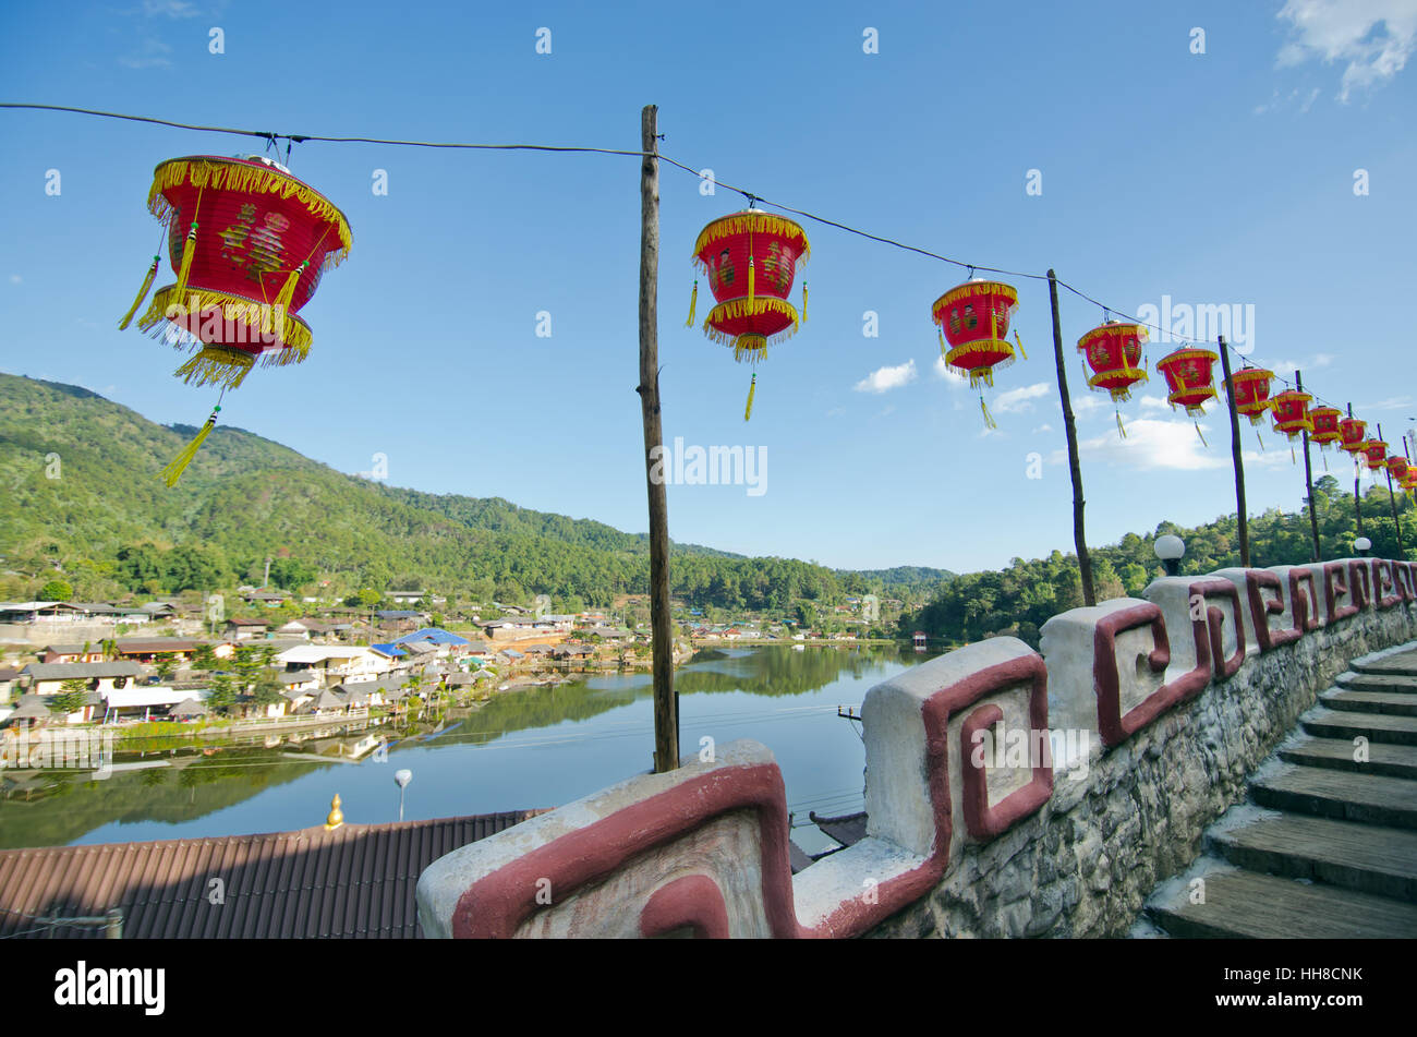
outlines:
{"label": "stone wall with raised red-painted meander pattern beside the stairs", "polygon": [[1153,582],[879,684],[866,837],[792,876],[755,742],[435,861],[431,935],[1118,936],[1348,660],[1411,640],[1417,570]]}

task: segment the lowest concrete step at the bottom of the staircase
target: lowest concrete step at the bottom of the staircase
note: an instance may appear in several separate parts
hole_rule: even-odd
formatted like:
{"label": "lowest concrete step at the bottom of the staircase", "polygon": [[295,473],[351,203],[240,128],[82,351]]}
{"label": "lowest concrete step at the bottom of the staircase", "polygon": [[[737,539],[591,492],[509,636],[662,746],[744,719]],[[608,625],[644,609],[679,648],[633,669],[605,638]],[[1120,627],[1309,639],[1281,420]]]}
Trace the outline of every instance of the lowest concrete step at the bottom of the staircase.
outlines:
{"label": "lowest concrete step at the bottom of the staircase", "polygon": [[1189,891],[1146,907],[1146,915],[1173,936],[1258,939],[1411,939],[1417,907],[1332,885],[1309,885],[1254,871],[1214,871],[1204,877],[1204,904]]}

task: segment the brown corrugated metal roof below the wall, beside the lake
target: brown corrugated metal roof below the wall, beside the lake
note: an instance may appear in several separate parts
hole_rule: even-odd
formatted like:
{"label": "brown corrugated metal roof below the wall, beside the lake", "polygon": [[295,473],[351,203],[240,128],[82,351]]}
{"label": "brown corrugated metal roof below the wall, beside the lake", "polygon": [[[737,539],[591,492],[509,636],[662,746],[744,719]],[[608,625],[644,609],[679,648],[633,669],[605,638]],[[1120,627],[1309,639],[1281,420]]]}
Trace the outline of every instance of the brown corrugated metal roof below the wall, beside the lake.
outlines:
{"label": "brown corrugated metal roof below the wall, beside the lake", "polygon": [[113,907],[125,939],[421,936],[414,892],[424,868],[537,813],[0,850],[0,939],[99,938],[102,928],[50,919]]}

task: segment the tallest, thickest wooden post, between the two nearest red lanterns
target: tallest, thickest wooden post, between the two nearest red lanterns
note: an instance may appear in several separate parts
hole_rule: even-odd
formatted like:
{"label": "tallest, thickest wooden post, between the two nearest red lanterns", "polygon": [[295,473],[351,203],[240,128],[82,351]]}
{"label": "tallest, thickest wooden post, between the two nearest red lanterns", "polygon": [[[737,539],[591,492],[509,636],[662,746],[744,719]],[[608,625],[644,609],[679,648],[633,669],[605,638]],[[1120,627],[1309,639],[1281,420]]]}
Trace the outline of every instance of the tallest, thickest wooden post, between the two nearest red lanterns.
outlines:
{"label": "tallest, thickest wooden post, between the two nearest red lanterns", "polygon": [[669,623],[669,502],[663,469],[665,432],[659,414],[659,108],[639,113],[639,392],[645,421],[645,489],[649,493],[649,626],[655,664],[655,772],[679,766],[679,697],[674,693],[674,640]]}

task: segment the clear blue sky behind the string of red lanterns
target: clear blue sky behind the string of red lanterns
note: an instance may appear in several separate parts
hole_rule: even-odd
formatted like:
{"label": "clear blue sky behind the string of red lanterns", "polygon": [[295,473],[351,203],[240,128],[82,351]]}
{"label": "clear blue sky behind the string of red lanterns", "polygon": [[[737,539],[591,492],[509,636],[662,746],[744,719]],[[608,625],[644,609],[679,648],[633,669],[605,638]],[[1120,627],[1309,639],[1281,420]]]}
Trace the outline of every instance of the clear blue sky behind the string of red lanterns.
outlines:
{"label": "clear blue sky behind the string of red lanterns", "polygon": [[[224,54],[210,52],[214,27]],[[869,28],[877,52],[863,47]],[[1417,414],[1403,303],[1414,37],[1417,0],[966,16],[881,3],[7,4],[0,99],[276,133],[628,149],[640,106],[656,103],[666,156],[768,201],[966,262],[1053,266],[1125,313],[1163,298],[1253,312],[1251,360],[1287,377],[1302,367],[1321,397],[1352,401],[1397,441]],[[0,368],[200,424],[213,394],[169,377],[179,357],[116,322],[157,239],[153,166],[259,142],[14,110],[0,110]],[[258,368],[222,416],[344,472],[384,453],[395,484],[646,528],[638,160],[305,143],[290,164],[344,210],[353,252],[302,312],[309,360]],[[45,194],[51,169],[58,196]],[[387,196],[371,190],[376,170]],[[1030,170],[1041,194],[1026,193]],[[966,273],[808,221],[809,320],[758,367],[744,424],[750,370],[684,327],[694,237],[741,196],[704,196],[672,167],[660,190],[666,441],[768,459],[760,494],[670,486],[676,540],[952,570],[1071,548],[1046,282],[1006,278],[1030,360],[998,373],[999,428],[985,434],[976,395],[938,374],[930,322]],[[1233,511],[1223,412],[1202,419],[1203,448],[1153,374],[1124,404],[1119,441],[1076,350],[1102,312],[1068,293],[1061,306],[1090,540]],[[540,312],[550,337],[536,333]],[[1271,432],[1264,453],[1248,425],[1244,436],[1251,510],[1297,507],[1302,462]],[[1027,477],[1030,460],[1041,477]]]}

